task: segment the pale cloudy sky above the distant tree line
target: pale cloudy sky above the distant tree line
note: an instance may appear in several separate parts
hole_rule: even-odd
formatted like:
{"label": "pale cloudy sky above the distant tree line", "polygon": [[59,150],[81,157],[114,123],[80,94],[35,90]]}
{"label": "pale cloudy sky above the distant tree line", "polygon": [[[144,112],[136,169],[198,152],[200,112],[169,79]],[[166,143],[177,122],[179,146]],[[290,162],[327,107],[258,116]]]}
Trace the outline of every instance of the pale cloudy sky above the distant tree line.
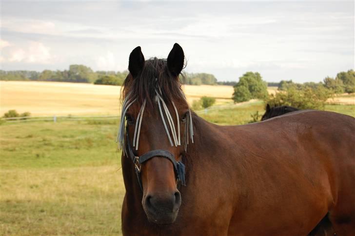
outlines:
{"label": "pale cloudy sky above the distant tree line", "polygon": [[189,73],[318,82],[355,67],[354,2],[1,0],[0,67],[123,71],[135,47],[167,58],[177,42]]}

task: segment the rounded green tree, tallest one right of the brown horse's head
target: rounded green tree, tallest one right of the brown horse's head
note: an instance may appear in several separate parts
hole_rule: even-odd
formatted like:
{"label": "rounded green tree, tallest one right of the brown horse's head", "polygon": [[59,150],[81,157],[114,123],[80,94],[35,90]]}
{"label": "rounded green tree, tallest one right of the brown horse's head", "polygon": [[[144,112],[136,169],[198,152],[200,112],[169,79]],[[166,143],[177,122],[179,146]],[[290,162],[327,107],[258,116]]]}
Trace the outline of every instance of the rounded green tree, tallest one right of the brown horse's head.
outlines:
{"label": "rounded green tree, tallest one right of the brown horse's head", "polygon": [[234,86],[235,102],[248,101],[251,98],[266,99],[267,96],[267,83],[261,79],[258,72],[245,73]]}

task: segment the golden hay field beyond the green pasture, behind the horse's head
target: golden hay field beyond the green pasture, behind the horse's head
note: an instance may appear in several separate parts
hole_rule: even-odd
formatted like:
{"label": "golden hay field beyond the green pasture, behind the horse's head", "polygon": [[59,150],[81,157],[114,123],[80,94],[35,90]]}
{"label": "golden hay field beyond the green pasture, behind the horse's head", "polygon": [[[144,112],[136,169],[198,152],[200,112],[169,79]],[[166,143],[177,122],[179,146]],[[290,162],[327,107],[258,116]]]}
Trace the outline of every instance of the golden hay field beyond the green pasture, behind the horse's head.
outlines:
{"label": "golden hay field beyond the green pasture, behind the horse's head", "polygon": [[[0,116],[11,109],[32,116],[117,115],[120,86],[87,83],[0,81]],[[184,85],[188,102],[202,96],[232,102],[232,86]]]}

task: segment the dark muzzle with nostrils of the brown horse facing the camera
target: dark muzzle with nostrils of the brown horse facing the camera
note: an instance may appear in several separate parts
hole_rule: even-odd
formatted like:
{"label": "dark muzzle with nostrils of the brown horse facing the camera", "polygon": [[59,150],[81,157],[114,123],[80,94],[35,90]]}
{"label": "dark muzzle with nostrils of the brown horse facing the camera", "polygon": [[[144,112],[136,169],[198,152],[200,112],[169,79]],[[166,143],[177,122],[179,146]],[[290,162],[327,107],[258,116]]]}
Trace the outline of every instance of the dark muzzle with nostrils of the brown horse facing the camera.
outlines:
{"label": "dark muzzle with nostrils of the brown horse facing the camera", "polygon": [[147,194],[142,199],[143,209],[148,220],[156,224],[174,223],[181,205],[181,195],[178,190],[166,196]]}

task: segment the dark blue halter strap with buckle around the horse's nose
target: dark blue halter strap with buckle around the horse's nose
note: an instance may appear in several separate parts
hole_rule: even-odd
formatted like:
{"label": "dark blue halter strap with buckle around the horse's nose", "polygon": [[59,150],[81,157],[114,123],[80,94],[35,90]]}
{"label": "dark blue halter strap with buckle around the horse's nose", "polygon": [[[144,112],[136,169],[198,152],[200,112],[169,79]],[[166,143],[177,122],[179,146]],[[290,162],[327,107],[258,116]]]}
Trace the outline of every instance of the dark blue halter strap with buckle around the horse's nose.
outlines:
{"label": "dark blue halter strap with buckle around the horse's nose", "polygon": [[176,161],[175,157],[173,154],[166,150],[162,149],[157,149],[157,150],[152,150],[149,151],[139,157],[137,157],[132,150],[131,147],[131,142],[129,140],[128,136],[128,129],[126,128],[126,138],[127,138],[127,146],[128,146],[128,152],[126,151],[126,154],[131,158],[133,164],[135,165],[135,171],[138,179],[138,184],[141,190],[143,190],[143,185],[142,185],[142,180],[140,178],[140,171],[141,171],[141,164],[146,162],[147,160],[153,158],[153,157],[164,157],[167,158],[168,160],[171,161],[174,167],[174,172],[177,178],[177,181],[180,181],[182,185],[186,185],[185,183],[185,165],[181,161]]}

